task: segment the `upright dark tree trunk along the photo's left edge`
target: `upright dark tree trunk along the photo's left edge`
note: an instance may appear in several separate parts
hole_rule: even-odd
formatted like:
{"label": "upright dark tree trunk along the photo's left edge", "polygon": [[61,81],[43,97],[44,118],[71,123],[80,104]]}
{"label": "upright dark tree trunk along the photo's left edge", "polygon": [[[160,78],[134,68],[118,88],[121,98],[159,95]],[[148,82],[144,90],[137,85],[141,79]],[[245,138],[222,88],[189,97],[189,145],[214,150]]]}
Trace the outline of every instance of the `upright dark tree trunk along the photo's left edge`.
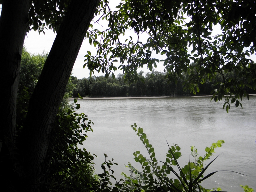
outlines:
{"label": "upright dark tree trunk along the photo's left edge", "polygon": [[[5,0],[0,17],[0,185],[17,176],[14,159],[20,59],[28,30],[29,0]],[[15,175],[15,176],[14,176]],[[4,184],[4,185],[2,185]]]}

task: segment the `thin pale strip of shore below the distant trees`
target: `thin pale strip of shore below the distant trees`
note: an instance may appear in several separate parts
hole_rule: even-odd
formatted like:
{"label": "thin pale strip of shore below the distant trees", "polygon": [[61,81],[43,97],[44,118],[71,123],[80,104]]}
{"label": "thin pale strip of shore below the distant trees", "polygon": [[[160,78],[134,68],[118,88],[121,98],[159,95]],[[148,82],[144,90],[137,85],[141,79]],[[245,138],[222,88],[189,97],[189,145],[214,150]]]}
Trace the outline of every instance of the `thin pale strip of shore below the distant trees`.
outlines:
{"label": "thin pale strip of shore below the distant trees", "polygon": [[[256,94],[249,94],[250,96],[256,96]],[[83,100],[99,100],[99,99],[149,99],[149,98],[168,98],[173,96],[137,96],[137,97],[83,97]],[[196,96],[175,96],[177,97],[212,97],[212,95],[196,95]],[[68,98],[68,100],[73,100],[74,98]],[[82,100],[78,98],[78,100]]]}

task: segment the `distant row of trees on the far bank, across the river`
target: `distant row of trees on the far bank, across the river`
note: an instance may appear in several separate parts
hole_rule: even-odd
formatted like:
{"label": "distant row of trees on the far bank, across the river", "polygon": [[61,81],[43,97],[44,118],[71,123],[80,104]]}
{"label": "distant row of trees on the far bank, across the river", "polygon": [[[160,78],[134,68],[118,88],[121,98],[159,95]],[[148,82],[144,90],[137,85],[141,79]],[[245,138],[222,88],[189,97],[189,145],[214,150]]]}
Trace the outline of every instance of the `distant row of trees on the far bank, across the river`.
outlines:
{"label": "distant row of trees on the far bank, across the river", "polygon": [[[74,84],[73,96],[78,97],[78,93],[84,96],[188,96],[193,95],[192,92],[186,90],[183,85],[184,80],[187,78],[186,74],[178,79],[178,82],[168,82],[165,78],[164,72],[155,71],[148,72],[143,76],[143,71],[138,73],[138,80],[136,83],[129,83],[124,80],[123,74],[118,74],[115,79],[112,76],[91,76],[88,78],[77,79],[75,76],[70,76],[71,82]],[[235,77],[237,81],[239,78],[234,71],[224,74],[225,77]],[[218,89],[223,76],[217,75],[216,79],[212,81],[207,80],[204,84],[199,84],[200,95],[211,95],[214,89]],[[244,81],[244,79],[242,79]],[[254,93],[252,89],[247,87],[248,93]]]}

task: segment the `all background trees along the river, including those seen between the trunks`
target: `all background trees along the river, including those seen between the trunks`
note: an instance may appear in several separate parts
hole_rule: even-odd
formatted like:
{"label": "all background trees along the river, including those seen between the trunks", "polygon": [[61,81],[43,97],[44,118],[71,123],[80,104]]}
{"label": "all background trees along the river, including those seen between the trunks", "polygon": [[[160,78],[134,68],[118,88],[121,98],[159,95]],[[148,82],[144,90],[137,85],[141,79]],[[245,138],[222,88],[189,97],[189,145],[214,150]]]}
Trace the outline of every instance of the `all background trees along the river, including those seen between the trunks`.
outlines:
{"label": "all background trees along the river, including those seen between the trunks", "polygon": [[[34,88],[37,83],[37,79],[42,71],[44,62],[47,58],[48,53],[42,53],[33,55],[26,51],[26,48],[23,49],[21,68],[20,68],[20,84],[18,88],[18,108],[20,104],[27,105],[28,103],[24,102],[24,92],[25,88],[28,92],[28,95],[31,95],[34,91]],[[191,63],[191,65],[195,65]],[[70,76],[68,84],[66,86],[66,92],[64,95],[64,100],[62,101],[62,106],[66,105],[65,98],[68,97],[78,97],[78,93],[84,96],[95,96],[95,97],[118,97],[118,96],[185,96],[185,95],[194,95],[188,90],[186,91],[183,83],[188,78],[187,74],[182,74],[178,81],[168,83],[168,78],[166,73],[159,72],[152,69],[151,72],[148,72],[146,75],[143,75],[144,72],[140,71],[138,73],[138,80],[135,83],[130,83],[125,81],[123,74],[118,74],[115,79],[112,76],[91,76],[88,78],[78,79],[75,76]],[[235,71],[227,72],[223,74],[226,79],[236,79],[236,81],[243,81],[244,84],[248,83],[246,79],[239,77],[239,74],[236,75]],[[217,74],[216,79],[211,81],[206,80],[204,84],[199,84],[199,93],[200,95],[211,95],[212,90],[218,89],[221,82],[223,81],[223,76]],[[251,84],[249,84],[251,86]],[[249,89],[245,86],[245,89],[248,93],[255,93],[253,89]],[[23,106],[24,107],[24,106]]]}

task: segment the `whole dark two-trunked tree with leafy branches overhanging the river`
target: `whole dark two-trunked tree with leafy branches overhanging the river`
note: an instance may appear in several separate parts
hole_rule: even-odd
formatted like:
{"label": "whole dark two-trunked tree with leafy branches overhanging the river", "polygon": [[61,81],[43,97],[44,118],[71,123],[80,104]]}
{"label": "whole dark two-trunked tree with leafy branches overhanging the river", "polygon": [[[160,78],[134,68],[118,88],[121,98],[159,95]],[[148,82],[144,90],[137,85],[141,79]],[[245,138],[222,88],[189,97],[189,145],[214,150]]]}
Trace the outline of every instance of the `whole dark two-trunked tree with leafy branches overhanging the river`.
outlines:
{"label": "whole dark two-trunked tree with leafy branches overhanging the river", "polygon": [[[227,95],[227,111],[229,99],[232,98],[231,103],[236,102],[236,107],[243,95],[249,99],[244,89],[250,87],[248,83],[252,83],[250,88],[255,90],[255,63],[246,58],[254,53],[256,45],[254,1],[127,0],[117,9],[111,11],[107,0],[3,1],[0,78],[5,82],[2,89],[6,94],[0,96],[4,112],[0,116],[2,186],[10,185],[13,180],[20,191],[36,191],[52,124],[84,36],[98,47],[96,56],[90,52],[86,55],[85,65],[91,72],[101,70],[109,76],[112,70],[117,70],[113,62],[118,58],[124,79],[136,82],[140,78],[138,67],[147,65],[152,70],[161,61],[170,82],[178,83],[182,73],[188,73],[184,84],[192,92],[199,92],[199,83],[216,79],[216,74],[220,74],[222,80],[216,81],[220,88],[215,90],[213,98],[217,101]],[[87,31],[92,27],[94,13],[109,22],[107,30]],[[222,34],[211,36],[217,24]],[[24,38],[28,30],[44,33],[45,27],[52,28],[57,36],[30,99],[26,123],[16,139],[16,99]],[[123,43],[119,36],[130,28],[138,38],[133,41],[131,37]],[[143,32],[148,34],[144,44],[139,41]],[[193,55],[188,52],[188,46],[193,47]],[[152,52],[165,55],[165,59],[153,58]],[[196,65],[190,66],[190,60]],[[223,73],[228,71],[235,71],[247,83],[225,77]]]}

